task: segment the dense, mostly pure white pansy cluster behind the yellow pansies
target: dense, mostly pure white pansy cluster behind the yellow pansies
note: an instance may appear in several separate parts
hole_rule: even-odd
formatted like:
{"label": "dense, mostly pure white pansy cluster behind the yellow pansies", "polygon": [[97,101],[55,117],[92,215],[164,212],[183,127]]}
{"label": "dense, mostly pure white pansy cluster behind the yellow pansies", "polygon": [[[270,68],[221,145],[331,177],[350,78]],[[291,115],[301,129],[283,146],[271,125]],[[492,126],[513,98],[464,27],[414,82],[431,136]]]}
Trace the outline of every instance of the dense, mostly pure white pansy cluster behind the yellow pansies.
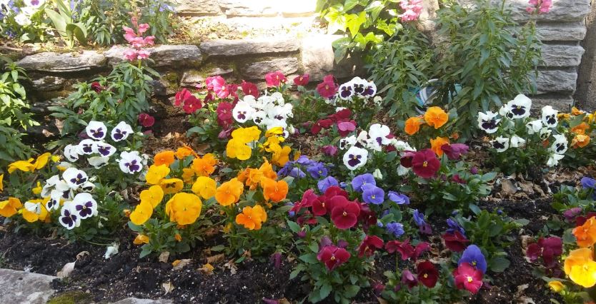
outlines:
{"label": "dense, mostly pure white pansy cluster behind the yellow pansies", "polygon": [[232,109],[232,116],[239,123],[253,121],[265,130],[282,127],[284,136],[287,137],[294,129],[287,124],[287,118],[294,117],[292,110],[292,103],[286,103],[282,93],[275,92],[259,98],[254,98],[252,95],[244,96],[242,101],[238,101]]}

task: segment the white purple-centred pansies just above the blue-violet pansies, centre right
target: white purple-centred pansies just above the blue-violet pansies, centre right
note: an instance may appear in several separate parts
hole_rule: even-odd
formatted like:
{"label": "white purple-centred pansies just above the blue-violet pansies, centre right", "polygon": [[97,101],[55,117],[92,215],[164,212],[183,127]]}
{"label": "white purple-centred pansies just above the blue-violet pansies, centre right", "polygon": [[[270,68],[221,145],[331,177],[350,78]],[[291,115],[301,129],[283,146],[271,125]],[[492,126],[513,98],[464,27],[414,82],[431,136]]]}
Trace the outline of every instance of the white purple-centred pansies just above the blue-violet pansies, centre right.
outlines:
{"label": "white purple-centred pansies just above the blue-violet pansies, centre right", "polygon": [[394,146],[397,151],[413,151],[412,147],[404,141],[389,138],[391,130],[388,126],[374,123],[369,131],[360,131],[358,136],[347,136],[339,140],[339,148],[347,150],[344,153],[344,165],[351,171],[367,163],[369,151],[381,152],[383,146]]}

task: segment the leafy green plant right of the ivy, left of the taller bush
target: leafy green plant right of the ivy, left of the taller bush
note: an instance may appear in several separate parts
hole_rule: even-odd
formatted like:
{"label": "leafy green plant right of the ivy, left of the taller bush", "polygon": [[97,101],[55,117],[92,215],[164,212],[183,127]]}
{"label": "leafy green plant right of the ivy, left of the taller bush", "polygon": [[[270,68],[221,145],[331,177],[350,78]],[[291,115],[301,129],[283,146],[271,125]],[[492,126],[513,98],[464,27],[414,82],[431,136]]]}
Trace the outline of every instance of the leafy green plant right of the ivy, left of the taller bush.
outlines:
{"label": "leafy green plant right of the ivy, left of the taller bush", "polygon": [[422,31],[404,26],[387,41],[372,49],[367,69],[377,85],[389,115],[399,112],[413,115],[417,106],[416,88],[424,86],[432,76],[433,52],[429,39]]}

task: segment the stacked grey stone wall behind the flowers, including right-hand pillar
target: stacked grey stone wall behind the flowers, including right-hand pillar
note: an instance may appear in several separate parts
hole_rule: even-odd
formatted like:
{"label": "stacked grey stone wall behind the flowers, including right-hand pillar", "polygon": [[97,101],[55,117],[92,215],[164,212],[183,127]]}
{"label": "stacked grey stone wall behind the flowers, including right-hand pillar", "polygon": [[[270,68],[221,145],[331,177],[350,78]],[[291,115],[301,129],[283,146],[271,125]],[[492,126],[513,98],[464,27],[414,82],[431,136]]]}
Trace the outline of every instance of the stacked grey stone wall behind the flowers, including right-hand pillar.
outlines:
{"label": "stacked grey stone wall behind the flowers, including right-hand pillar", "polygon": [[[316,0],[177,0],[178,12],[184,18],[242,20],[244,24],[262,26],[270,22],[294,22],[296,18],[315,22]],[[465,1],[465,0],[461,0]],[[500,5],[501,1],[495,1]],[[585,16],[590,0],[553,0],[552,10],[540,15],[538,33],[545,43],[544,62],[537,78],[535,104],[552,104],[565,109],[572,103],[576,89],[577,66],[584,53],[580,41],[586,35]],[[424,16],[433,16],[437,0],[425,0]],[[528,20],[527,0],[507,0],[517,21]],[[430,9],[428,9],[430,8]],[[306,18],[306,19],[304,19]],[[428,22],[427,22],[428,23]],[[427,24],[425,28],[432,28]],[[162,74],[155,83],[157,95],[167,98],[179,88],[192,87],[207,76],[222,75],[230,81],[254,81],[263,87],[264,74],[280,70],[292,77],[308,73],[318,81],[332,73],[338,78],[362,75],[362,63],[356,59],[334,63],[332,41],[339,36],[306,33],[264,36],[241,40],[214,40],[200,44],[162,45],[152,49],[154,67]],[[71,85],[88,81],[96,74],[106,74],[111,66],[124,60],[124,46],[106,51],[81,51],[65,54],[40,53],[26,56],[18,64],[32,79],[32,96],[36,111],[43,111],[46,101],[66,96]],[[581,87],[580,87],[581,88]]]}

